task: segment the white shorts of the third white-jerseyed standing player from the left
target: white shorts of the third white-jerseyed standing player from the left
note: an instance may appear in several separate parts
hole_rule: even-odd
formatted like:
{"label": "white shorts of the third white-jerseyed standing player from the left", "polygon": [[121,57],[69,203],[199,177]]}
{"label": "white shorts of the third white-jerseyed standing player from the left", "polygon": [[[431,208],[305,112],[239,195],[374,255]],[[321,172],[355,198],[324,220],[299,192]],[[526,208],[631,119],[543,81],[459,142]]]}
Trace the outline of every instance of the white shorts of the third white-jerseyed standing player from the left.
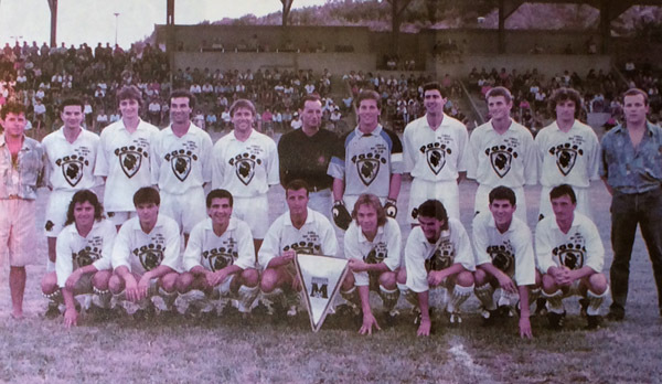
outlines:
{"label": "white shorts of the third white-jerseyed standing player from the left", "polygon": [[207,217],[204,190],[191,188],[182,194],[161,191],[159,212],[173,218],[181,232],[191,233],[195,224]]}

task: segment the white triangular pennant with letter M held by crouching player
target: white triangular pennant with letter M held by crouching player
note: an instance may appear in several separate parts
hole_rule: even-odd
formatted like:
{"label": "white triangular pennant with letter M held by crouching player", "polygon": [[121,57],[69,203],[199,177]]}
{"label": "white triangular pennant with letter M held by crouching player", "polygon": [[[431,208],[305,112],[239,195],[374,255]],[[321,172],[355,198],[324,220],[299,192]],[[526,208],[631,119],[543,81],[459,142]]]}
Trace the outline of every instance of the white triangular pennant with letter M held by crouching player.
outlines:
{"label": "white triangular pennant with letter M held by crouching player", "polygon": [[308,308],[310,326],[317,332],[322,327],[329,307],[348,274],[344,258],[297,254],[297,275],[301,281],[303,302]]}

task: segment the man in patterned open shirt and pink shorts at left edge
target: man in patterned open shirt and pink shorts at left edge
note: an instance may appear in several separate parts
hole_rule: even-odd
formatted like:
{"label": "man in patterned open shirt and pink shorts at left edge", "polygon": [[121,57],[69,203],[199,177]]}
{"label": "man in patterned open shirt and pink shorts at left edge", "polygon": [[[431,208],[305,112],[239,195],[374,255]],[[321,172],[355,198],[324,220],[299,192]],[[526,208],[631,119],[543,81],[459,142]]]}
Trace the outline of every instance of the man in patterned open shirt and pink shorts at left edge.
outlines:
{"label": "man in patterned open shirt and pink shorts at left edge", "polygon": [[21,104],[8,103],[0,111],[0,267],[9,254],[14,319],[23,317],[25,265],[34,262],[36,189],[45,186],[44,150],[23,134],[26,122]]}

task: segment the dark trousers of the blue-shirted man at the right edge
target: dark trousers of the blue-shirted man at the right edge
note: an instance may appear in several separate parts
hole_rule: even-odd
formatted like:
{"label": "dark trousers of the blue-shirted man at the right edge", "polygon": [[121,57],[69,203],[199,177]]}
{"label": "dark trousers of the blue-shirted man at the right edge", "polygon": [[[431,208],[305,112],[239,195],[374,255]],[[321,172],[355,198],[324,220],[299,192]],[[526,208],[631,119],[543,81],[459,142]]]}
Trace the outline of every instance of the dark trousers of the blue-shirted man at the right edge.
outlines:
{"label": "dark trousers of the blue-shirted man at the right edge", "polygon": [[613,301],[611,308],[616,310],[626,308],[630,258],[638,224],[653,265],[658,306],[662,309],[662,189],[655,189],[633,194],[615,192],[611,201],[613,262],[609,275]]}

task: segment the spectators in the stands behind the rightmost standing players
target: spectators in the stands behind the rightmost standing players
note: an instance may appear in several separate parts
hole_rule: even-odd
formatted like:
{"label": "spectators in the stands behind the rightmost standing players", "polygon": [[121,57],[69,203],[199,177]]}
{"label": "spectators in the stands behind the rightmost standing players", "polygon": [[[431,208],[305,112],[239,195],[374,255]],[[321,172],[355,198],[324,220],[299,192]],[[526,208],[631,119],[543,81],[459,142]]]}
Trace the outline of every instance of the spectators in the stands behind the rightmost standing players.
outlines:
{"label": "spectators in the stands behind the rightmost standing players", "polygon": [[[644,89],[650,97],[652,121],[658,121],[662,109],[660,98],[661,74],[655,74],[650,68],[636,71],[634,65],[627,65],[631,70],[623,71],[626,81],[617,72],[605,73],[602,70],[589,70],[585,76],[576,72],[564,71],[552,76],[545,76],[536,68],[520,73],[516,70],[492,68],[490,72],[476,67],[468,75],[469,89],[480,94],[482,98],[490,88],[504,86],[513,94],[513,118],[528,127],[535,135],[541,128],[549,124],[554,116],[547,108],[547,99],[559,87],[573,87],[583,96],[581,115],[586,120],[591,113],[608,114],[606,128],[611,128],[622,120],[622,105],[620,95],[630,87]],[[489,116],[487,116],[489,118]]]}

